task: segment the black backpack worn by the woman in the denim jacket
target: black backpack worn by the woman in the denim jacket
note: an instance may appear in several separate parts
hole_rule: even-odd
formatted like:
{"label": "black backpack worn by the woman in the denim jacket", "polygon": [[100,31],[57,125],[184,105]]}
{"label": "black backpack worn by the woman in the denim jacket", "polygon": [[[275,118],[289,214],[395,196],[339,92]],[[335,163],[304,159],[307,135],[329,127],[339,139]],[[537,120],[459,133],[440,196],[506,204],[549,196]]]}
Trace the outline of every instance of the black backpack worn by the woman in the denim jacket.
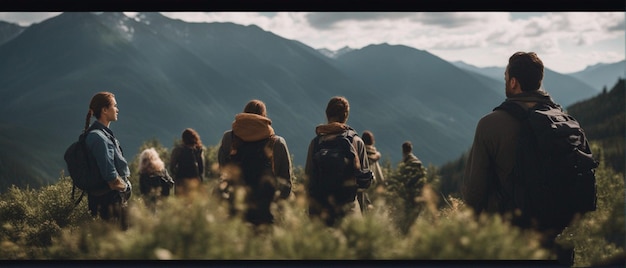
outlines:
{"label": "black backpack worn by the woman in the denim jacket", "polygon": [[85,192],[89,193],[91,191],[108,188],[107,183],[102,179],[96,159],[87,149],[85,142],[87,134],[94,129],[102,130],[109,139],[114,141],[114,138],[106,131],[92,125],[85,132],[80,134],[78,141],[72,143],[67,150],[65,150],[65,154],[63,155],[65,163],[67,164],[67,170],[72,178],[72,199],[74,199],[74,191],[76,188],[82,190],[82,194],[76,201],[76,204],[81,201]]}

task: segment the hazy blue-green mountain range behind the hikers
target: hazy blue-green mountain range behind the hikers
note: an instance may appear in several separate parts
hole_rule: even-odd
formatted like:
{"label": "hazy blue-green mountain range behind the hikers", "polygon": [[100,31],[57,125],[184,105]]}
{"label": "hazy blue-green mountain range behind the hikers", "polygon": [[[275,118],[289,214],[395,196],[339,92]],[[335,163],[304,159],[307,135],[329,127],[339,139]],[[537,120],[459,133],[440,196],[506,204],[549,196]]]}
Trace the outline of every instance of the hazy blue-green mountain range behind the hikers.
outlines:
{"label": "hazy blue-green mountain range behind the hikers", "polygon": [[[350,101],[348,124],[372,131],[384,159],[398,162],[410,140],[434,165],[465,152],[478,119],[504,99],[503,71],[496,79],[424,50],[372,44],[329,54],[254,25],[160,13],[70,12],[29,27],[0,24],[0,58],[2,189],[58,179],[99,91],[116,96],[111,129],[130,159],[152,138],[171,147],[187,127],[217,145],[235,114],[260,99],[296,166],[333,96]],[[550,70],[544,85],[562,105],[599,92]]]}

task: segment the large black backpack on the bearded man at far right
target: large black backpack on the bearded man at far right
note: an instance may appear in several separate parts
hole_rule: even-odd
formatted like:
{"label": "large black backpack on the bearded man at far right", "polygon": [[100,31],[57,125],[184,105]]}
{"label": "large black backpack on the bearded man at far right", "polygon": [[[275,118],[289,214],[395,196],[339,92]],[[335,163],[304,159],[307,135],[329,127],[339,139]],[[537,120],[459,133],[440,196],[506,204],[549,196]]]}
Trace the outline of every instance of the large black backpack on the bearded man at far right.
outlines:
{"label": "large black backpack on the bearded man at far right", "polygon": [[514,223],[561,230],[576,214],[594,211],[598,161],[578,121],[556,104],[538,103],[526,110],[505,101],[496,109],[522,123],[509,197],[522,214]]}

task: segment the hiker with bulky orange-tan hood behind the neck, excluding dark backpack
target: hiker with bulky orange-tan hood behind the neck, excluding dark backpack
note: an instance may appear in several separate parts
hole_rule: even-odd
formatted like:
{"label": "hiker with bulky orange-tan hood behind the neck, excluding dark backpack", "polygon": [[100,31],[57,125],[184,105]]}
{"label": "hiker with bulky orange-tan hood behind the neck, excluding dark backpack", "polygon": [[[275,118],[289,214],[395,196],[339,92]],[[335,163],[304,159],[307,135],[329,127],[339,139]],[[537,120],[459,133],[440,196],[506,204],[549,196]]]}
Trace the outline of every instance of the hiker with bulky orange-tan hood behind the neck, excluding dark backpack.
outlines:
{"label": "hiker with bulky orange-tan hood behind the neck, excluding dark backpack", "polygon": [[[246,185],[240,175],[242,170],[233,164],[233,157],[244,143],[254,143],[268,139],[265,145],[267,157],[271,160],[271,178],[267,184]],[[244,186],[247,191],[246,219],[254,224],[273,222],[269,206],[277,198],[286,199],[291,194],[292,164],[287,142],[274,133],[272,120],[267,117],[265,103],[251,100],[244,107],[243,113],[235,115],[232,129],[224,132],[218,150],[220,166],[219,193],[230,202],[234,202],[233,188]],[[231,213],[234,204],[231,204]]]}

